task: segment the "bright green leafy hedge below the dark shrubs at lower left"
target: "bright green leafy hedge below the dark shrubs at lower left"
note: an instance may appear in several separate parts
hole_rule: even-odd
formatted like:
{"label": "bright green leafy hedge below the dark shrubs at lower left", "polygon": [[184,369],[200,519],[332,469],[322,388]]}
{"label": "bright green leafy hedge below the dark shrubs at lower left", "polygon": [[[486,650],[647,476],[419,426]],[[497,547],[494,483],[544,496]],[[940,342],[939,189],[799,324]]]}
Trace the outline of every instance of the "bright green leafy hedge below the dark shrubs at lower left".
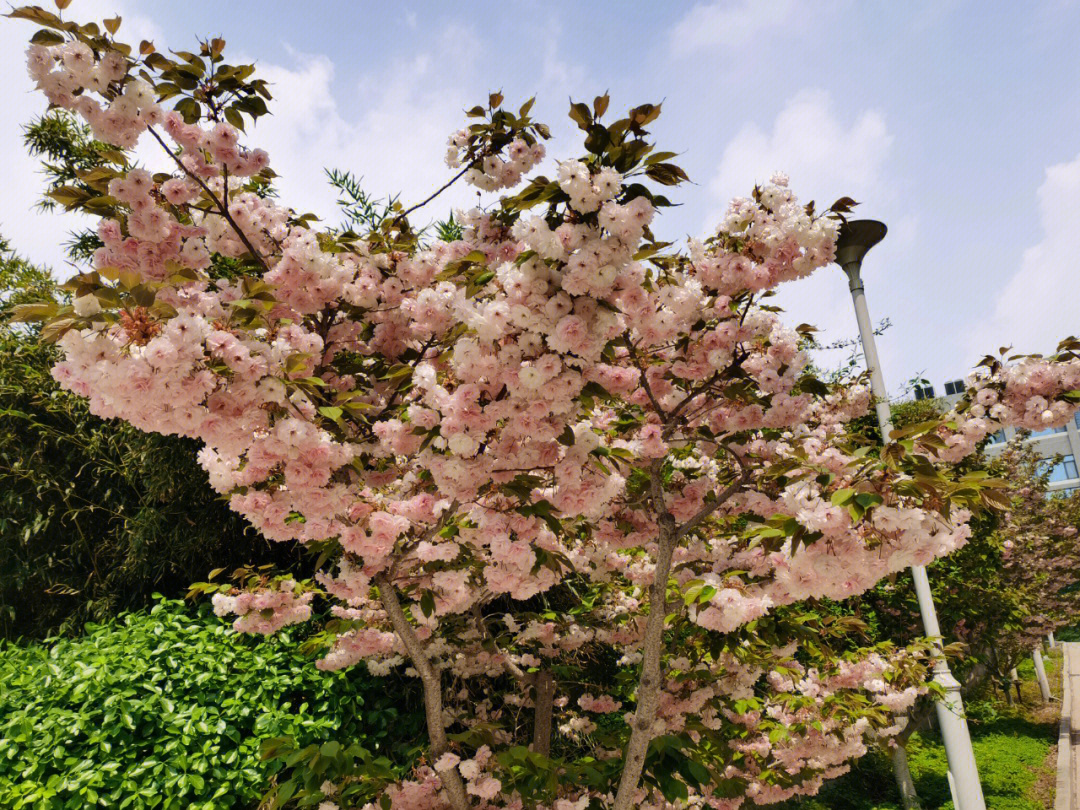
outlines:
{"label": "bright green leafy hedge below the dark shrubs at lower left", "polygon": [[415,691],[320,672],[296,646],[166,600],[77,639],[0,644],[0,807],[253,808],[281,767],[260,744],[281,735],[407,761]]}

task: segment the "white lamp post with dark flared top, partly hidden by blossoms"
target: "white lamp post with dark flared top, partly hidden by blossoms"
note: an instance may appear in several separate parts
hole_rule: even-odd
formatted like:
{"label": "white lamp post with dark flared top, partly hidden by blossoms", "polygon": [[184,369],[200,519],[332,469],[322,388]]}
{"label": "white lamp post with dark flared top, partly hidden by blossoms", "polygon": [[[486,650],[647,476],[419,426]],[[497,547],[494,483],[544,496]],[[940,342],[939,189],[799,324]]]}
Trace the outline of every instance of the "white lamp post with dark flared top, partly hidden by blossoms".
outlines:
{"label": "white lamp post with dark flared top, partly hidden by blossoms", "polygon": [[[870,374],[870,392],[877,401],[875,407],[878,427],[881,429],[882,442],[888,444],[892,433],[892,415],[889,411],[888,391],[885,387],[885,378],[881,376],[881,362],[878,360],[877,346],[874,342],[874,328],[870,325],[869,311],[866,309],[866,294],[860,275],[863,257],[874,245],[885,239],[886,230],[885,222],[878,222],[874,219],[855,219],[845,222],[840,226],[840,234],[836,242],[836,264],[843,268],[848,274],[848,287],[851,289],[851,299],[855,305],[855,320],[859,322],[863,356],[866,357],[866,368]],[[941,728],[942,740],[945,743],[954,804],[957,810],[986,810],[983,787],[978,783],[975,755],[971,748],[971,735],[968,733],[968,721],[963,717],[960,684],[949,672],[948,662],[942,650],[942,632],[937,624],[934,600],[930,594],[927,569],[921,565],[912,566],[912,579],[915,580],[915,594],[919,599],[922,630],[928,637],[934,639],[934,681],[945,690],[945,698],[939,701],[934,707],[937,712],[937,725]]]}

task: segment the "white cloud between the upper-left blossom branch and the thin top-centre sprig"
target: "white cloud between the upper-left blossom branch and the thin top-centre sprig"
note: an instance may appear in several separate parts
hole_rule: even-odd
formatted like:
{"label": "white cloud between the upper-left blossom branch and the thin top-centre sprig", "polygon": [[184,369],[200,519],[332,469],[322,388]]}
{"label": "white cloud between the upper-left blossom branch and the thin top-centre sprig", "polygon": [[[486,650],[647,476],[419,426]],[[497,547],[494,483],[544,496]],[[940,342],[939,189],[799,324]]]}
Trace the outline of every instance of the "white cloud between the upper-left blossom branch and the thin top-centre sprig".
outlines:
{"label": "white cloud between the upper-left blossom branch and the thin top-centre sprig", "polygon": [[[430,53],[365,75],[341,102],[334,63],[325,55],[286,49],[292,64],[259,63],[271,83],[273,114],[259,119],[248,140],[270,153],[283,202],[335,217],[323,167],[351,170],[370,193],[400,192],[406,204],[427,197],[448,178],[446,138],[478,97],[474,63],[464,56],[478,50],[470,30],[445,30]],[[432,216],[468,198],[454,189]]]}

